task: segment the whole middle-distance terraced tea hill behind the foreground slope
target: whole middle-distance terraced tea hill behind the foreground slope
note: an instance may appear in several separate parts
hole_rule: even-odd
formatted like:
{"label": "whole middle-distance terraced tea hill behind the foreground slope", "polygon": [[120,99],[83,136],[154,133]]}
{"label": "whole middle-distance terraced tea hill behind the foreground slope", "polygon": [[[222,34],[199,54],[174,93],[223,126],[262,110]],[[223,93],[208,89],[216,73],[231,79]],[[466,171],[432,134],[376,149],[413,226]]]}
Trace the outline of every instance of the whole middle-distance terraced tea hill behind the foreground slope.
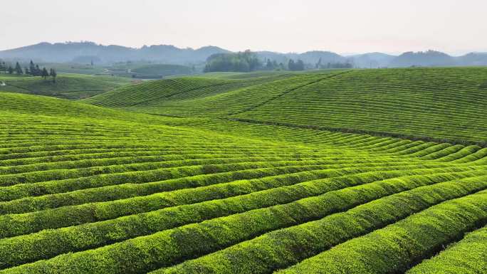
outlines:
{"label": "whole middle-distance terraced tea hill behind the foreground slope", "polygon": [[[235,74],[216,77],[214,80],[245,78]],[[263,78],[268,81],[258,81]],[[194,87],[198,81],[203,80],[194,78]],[[123,98],[125,105],[117,105],[120,93],[116,92],[90,102],[159,115],[226,117],[436,142],[487,142],[486,68],[317,71],[241,81],[247,84],[182,90],[145,104],[130,105],[131,98]],[[159,93],[169,90],[164,82],[159,83]],[[136,97],[137,90],[132,91]]]}

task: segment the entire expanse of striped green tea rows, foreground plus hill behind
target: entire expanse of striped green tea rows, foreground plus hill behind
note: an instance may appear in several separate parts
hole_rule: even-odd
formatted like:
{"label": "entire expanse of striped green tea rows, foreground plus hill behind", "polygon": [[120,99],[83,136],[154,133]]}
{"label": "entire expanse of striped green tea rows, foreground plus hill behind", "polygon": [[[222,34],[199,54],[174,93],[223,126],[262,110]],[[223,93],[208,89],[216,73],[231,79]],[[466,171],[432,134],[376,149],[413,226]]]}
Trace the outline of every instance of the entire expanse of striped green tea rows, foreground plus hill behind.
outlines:
{"label": "entire expanse of striped green tea rows, foreground plus hill behind", "polygon": [[0,93],[0,274],[487,273],[486,83],[409,68]]}

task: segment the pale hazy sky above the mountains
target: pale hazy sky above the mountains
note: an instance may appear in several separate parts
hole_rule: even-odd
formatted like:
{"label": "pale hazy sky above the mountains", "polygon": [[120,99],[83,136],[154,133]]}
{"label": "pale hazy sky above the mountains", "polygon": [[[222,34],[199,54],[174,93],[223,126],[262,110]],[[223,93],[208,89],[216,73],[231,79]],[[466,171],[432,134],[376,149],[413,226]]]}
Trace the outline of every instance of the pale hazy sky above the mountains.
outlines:
{"label": "pale hazy sky above the mountains", "polygon": [[0,49],[95,41],[232,51],[487,51],[486,0],[2,2]]}

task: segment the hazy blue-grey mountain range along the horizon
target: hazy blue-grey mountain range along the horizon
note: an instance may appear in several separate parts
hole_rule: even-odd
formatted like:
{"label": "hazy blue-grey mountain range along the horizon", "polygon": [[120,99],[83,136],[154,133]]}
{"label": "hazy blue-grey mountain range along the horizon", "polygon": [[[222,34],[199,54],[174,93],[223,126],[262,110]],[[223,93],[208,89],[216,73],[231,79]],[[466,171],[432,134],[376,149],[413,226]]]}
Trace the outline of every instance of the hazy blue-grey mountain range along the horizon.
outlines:
{"label": "hazy blue-grey mountain range along the horizon", "polygon": [[[127,60],[150,60],[155,63],[201,64],[215,53],[229,53],[224,48],[206,46],[203,48],[177,48],[171,45],[143,46],[103,46],[93,42],[38,43],[32,46],[0,51],[0,58],[6,60],[34,60],[52,63],[94,63],[110,64]],[[410,66],[454,66],[487,65],[487,53],[468,53],[464,56],[449,56],[439,51],[407,52],[399,56],[385,53],[365,53],[353,56],[340,56],[329,51],[308,51],[305,53],[276,53],[258,51],[262,60],[271,59],[286,63],[289,59],[301,59],[314,65],[321,59],[327,63],[353,63],[356,68],[410,67]]]}

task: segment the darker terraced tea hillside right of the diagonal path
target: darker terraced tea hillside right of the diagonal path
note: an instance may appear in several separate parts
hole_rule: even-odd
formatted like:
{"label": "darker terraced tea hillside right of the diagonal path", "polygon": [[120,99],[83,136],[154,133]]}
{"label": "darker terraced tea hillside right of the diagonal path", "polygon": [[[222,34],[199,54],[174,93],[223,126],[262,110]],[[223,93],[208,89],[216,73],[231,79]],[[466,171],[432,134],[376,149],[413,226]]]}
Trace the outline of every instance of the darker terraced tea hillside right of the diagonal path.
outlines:
{"label": "darker terraced tea hillside right of the diagonal path", "polygon": [[487,141],[487,68],[355,70],[234,117]]}

